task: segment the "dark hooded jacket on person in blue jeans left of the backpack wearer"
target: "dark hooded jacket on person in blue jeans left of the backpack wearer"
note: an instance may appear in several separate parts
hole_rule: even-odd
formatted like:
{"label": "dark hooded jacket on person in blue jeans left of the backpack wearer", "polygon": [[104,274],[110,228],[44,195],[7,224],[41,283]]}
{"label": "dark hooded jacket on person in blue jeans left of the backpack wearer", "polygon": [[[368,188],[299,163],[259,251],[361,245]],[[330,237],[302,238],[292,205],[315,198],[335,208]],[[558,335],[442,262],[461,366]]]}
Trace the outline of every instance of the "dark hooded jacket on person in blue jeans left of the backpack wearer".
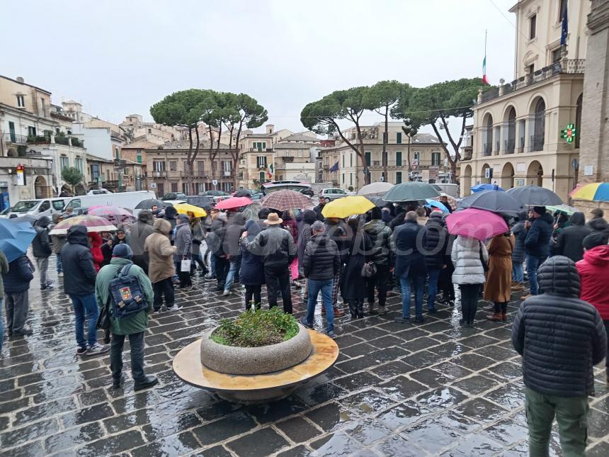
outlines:
{"label": "dark hooded jacket on person in blue jeans left of the backpack wearer", "polygon": [[67,243],[62,248],[64,267],[64,292],[68,295],[90,295],[95,292],[97,271],[93,254],[89,249],[86,227],[74,225],[67,233]]}

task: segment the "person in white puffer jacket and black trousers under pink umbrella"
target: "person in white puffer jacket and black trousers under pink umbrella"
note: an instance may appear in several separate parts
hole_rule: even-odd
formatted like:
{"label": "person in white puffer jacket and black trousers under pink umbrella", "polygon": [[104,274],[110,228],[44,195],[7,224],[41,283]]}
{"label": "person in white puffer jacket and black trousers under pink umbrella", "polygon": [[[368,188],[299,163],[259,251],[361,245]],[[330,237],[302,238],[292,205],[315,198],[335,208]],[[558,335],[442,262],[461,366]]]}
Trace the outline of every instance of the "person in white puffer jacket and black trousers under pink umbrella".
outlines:
{"label": "person in white puffer jacket and black trousers under pink umbrella", "polygon": [[484,284],[484,264],[489,261],[489,252],[484,243],[472,237],[458,236],[450,254],[455,266],[453,283],[461,290],[461,315],[464,327],[473,327],[478,306],[480,286]]}

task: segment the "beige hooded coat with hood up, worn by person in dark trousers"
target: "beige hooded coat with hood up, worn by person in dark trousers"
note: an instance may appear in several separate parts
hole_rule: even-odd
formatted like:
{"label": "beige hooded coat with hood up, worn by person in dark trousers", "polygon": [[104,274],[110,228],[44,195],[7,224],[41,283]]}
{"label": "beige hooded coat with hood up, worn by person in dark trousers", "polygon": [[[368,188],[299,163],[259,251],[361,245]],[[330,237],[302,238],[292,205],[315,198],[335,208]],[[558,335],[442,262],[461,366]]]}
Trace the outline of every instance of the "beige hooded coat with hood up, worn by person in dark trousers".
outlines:
{"label": "beige hooded coat with hood up, worn by person in dark trousers", "polygon": [[144,252],[148,254],[150,259],[148,265],[150,281],[158,283],[176,274],[173,254],[176,253],[178,248],[171,246],[171,241],[169,241],[169,232],[171,232],[169,220],[155,220],[152,230],[152,235],[147,237],[144,242]]}

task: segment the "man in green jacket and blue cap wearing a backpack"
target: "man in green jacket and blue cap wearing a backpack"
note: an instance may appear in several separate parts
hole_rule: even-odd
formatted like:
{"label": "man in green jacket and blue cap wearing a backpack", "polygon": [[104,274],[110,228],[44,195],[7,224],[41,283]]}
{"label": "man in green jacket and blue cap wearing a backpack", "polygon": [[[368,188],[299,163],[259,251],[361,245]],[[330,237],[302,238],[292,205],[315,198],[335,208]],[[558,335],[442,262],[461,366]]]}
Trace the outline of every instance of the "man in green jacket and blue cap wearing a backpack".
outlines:
{"label": "man in green jacket and blue cap wearing a backpack", "polygon": [[[125,337],[129,337],[134,390],[142,390],[159,382],[156,376],[146,376],[144,373],[144,333],[148,328],[148,315],[152,312],[154,293],[148,276],[140,266],[133,264],[132,258],[133,251],[128,244],[114,247],[110,264],[104,266],[98,273],[95,281],[95,296],[99,308],[106,306],[110,310],[112,387],[120,389],[125,380],[123,346]],[[113,281],[115,279],[117,281]],[[132,300],[128,305],[135,307],[131,314],[124,316],[119,314],[120,303],[123,303],[125,308],[127,305],[124,305],[123,301],[115,303],[117,296],[125,301]]]}

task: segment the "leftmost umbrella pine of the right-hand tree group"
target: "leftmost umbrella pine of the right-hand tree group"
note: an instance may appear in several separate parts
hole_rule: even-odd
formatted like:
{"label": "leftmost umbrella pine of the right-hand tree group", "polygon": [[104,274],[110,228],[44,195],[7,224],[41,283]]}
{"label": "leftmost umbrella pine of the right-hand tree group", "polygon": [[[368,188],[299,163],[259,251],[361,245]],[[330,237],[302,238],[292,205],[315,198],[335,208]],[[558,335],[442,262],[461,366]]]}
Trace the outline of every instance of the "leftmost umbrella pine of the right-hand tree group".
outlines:
{"label": "leftmost umbrella pine of the right-hand tree group", "polygon": [[[345,91],[334,91],[321,100],[307,104],[300,113],[300,122],[305,128],[319,135],[338,133],[341,140],[353,149],[363,167],[365,184],[370,184],[370,171],[365,159],[360,120],[366,110],[364,97],[368,89],[367,86],[360,86]],[[355,142],[343,134],[344,129],[339,125],[343,120],[355,127]],[[359,188],[358,173],[355,174],[355,185]]]}

